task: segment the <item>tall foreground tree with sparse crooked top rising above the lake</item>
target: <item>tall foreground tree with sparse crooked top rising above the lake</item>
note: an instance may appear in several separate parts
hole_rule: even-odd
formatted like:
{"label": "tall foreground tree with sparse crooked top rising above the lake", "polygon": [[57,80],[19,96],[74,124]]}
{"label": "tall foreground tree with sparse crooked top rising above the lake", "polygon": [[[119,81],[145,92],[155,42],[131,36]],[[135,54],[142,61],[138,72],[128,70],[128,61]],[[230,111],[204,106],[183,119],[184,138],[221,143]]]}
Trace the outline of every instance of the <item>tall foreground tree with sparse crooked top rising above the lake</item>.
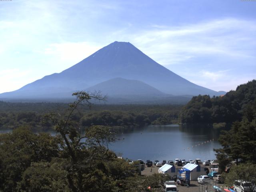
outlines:
{"label": "tall foreground tree with sparse crooked top rising above the lake", "polygon": [[136,167],[120,160],[108,149],[115,141],[113,131],[105,126],[90,126],[82,134],[80,124],[72,120],[73,112],[82,103],[91,105],[90,99],[103,100],[100,95],[86,92],[74,93],[77,100],[70,104],[66,116],[50,114],[56,124],[56,131],[64,140],[62,148],[62,170],[66,173],[68,188],[72,192],[120,191],[125,178],[136,175]]}

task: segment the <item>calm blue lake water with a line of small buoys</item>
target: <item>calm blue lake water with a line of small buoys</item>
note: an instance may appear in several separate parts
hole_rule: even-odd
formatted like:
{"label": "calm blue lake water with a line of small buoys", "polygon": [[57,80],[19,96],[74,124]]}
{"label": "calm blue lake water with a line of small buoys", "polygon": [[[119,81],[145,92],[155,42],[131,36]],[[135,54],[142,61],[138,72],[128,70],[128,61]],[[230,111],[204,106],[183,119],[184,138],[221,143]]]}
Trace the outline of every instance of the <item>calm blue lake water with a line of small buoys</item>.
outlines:
{"label": "calm blue lake water with a line of small buoys", "polygon": [[214,148],[220,148],[219,129],[208,125],[167,125],[126,128],[118,133],[110,148],[132,160],[201,160],[216,159]]}

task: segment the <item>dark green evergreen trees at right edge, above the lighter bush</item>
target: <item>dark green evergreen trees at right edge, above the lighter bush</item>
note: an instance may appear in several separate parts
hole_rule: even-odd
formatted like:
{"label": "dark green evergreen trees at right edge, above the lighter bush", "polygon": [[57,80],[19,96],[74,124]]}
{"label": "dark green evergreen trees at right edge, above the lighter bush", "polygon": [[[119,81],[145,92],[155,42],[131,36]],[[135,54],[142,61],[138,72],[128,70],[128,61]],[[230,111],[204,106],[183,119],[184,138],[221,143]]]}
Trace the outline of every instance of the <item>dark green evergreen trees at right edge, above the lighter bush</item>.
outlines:
{"label": "dark green evergreen trees at right edge, above the lighter bush", "polygon": [[222,131],[219,142],[223,148],[215,149],[220,169],[232,160],[256,163],[256,101],[245,110],[243,120],[234,122],[229,131]]}

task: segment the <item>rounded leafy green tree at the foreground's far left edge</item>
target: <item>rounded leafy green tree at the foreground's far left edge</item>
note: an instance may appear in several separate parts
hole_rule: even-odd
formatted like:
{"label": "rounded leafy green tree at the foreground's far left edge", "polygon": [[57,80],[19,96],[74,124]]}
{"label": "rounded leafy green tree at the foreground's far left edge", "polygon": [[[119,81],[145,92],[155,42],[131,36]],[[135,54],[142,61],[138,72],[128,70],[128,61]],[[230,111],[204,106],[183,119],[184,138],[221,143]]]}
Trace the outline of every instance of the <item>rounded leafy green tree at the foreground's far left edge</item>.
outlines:
{"label": "rounded leafy green tree at the foreground's far left edge", "polygon": [[34,134],[18,128],[0,135],[0,191],[13,192],[31,162],[51,161],[59,156],[62,140],[50,134]]}

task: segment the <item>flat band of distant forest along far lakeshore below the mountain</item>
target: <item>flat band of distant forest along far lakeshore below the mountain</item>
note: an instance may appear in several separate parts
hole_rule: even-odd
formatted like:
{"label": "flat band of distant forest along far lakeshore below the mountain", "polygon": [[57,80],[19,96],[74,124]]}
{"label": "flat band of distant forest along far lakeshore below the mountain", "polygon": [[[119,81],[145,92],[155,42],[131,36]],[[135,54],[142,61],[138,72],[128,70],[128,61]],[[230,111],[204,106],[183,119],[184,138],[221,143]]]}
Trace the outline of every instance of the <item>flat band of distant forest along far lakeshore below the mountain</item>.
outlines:
{"label": "flat band of distant forest along far lakeshore below the mountain", "polygon": [[[178,122],[181,105],[93,105],[91,109],[79,106],[72,119],[83,127],[91,125],[136,127]],[[0,102],[0,129],[29,126],[34,131],[54,130],[54,124],[45,120],[45,114],[65,114],[65,103],[11,103]]]}

